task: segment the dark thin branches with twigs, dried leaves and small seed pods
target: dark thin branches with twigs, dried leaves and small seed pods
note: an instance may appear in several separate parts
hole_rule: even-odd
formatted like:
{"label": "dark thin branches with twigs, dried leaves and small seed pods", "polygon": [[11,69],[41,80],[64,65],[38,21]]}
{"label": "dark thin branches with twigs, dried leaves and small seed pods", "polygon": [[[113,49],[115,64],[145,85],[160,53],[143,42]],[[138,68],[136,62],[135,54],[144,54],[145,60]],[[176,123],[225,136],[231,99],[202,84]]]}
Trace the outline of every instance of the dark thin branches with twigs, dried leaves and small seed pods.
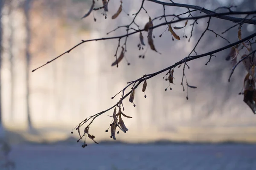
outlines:
{"label": "dark thin branches with twigs, dried leaves and small seed pods", "polygon": [[[49,63],[55,61],[56,59],[58,59],[59,57],[64,56],[67,53],[70,53],[76,47],[78,47],[78,46],[80,46],[80,45],[82,45],[86,42],[103,41],[103,40],[105,41],[105,40],[113,40],[113,39],[118,40],[118,45],[117,45],[117,48],[116,48],[116,51],[115,51],[115,54],[114,54],[114,56],[116,57],[116,61],[112,63],[112,66],[116,65],[118,67],[118,63],[121,62],[122,58],[124,57],[124,54],[128,50],[127,46],[126,46],[126,43],[128,41],[128,37],[130,35],[140,34],[140,36],[139,36],[140,37],[140,44],[138,45],[138,48],[143,49],[143,46],[145,45],[145,43],[144,43],[144,39],[143,39],[144,37],[142,35],[142,32],[148,32],[148,37],[147,37],[148,46],[147,47],[151,48],[151,50],[156,51],[157,53],[160,54],[160,52],[158,52],[155,49],[154,43],[153,43],[154,36],[152,34],[152,31],[155,28],[158,28],[158,27],[161,27],[161,26],[166,26],[167,27],[166,30],[170,31],[171,34],[172,34],[172,39],[173,40],[175,40],[175,39],[180,40],[180,37],[175,33],[175,30],[183,29],[187,26],[192,26],[191,31],[190,31],[191,35],[190,35],[189,40],[188,40],[188,42],[189,42],[190,38],[192,37],[193,30],[196,27],[196,25],[198,24],[198,20],[201,20],[201,19],[204,19],[204,18],[208,19],[206,28],[201,33],[201,36],[199,37],[199,39],[195,43],[194,48],[189,53],[189,55],[184,56],[183,59],[181,59],[180,61],[175,62],[173,65],[170,65],[169,67],[163,68],[163,69],[161,69],[157,72],[151,73],[151,74],[145,74],[145,75],[141,76],[140,78],[138,78],[136,80],[128,82],[128,84],[124,88],[122,88],[115,96],[112,97],[112,99],[114,99],[117,95],[120,94],[120,99],[118,100],[118,102],[116,102],[115,105],[111,106],[110,108],[106,109],[105,111],[96,113],[96,114],[84,119],[83,121],[81,121],[79,123],[79,125],[77,125],[74,128],[74,129],[78,130],[78,133],[79,133],[79,136],[80,136],[79,140],[84,138],[84,143],[83,143],[82,147],[87,146],[87,143],[86,143],[86,137],[87,136],[88,136],[89,139],[92,139],[95,143],[97,143],[94,140],[95,136],[89,134],[90,125],[92,125],[93,121],[98,116],[100,116],[103,113],[106,113],[106,112],[108,112],[112,109],[114,109],[113,115],[111,116],[111,117],[113,117],[113,120],[111,122],[111,125],[109,126],[109,128],[111,128],[111,138],[113,138],[114,140],[116,139],[116,137],[115,137],[116,127],[119,127],[120,130],[122,130],[123,132],[126,133],[128,128],[125,127],[124,122],[122,120],[122,116],[128,117],[128,118],[131,118],[131,117],[126,116],[123,113],[123,111],[124,111],[123,100],[126,99],[127,97],[129,97],[129,102],[133,103],[135,91],[138,90],[137,88],[139,88],[140,84],[143,82],[142,91],[145,92],[145,89],[146,89],[146,86],[147,86],[146,80],[151,79],[151,78],[153,78],[153,77],[155,77],[159,74],[162,74],[164,72],[166,72],[165,77],[166,77],[166,80],[169,80],[169,86],[170,86],[170,84],[173,83],[173,79],[174,79],[173,78],[174,69],[177,68],[177,67],[178,68],[181,67],[182,64],[183,64],[183,76],[182,76],[181,85],[183,87],[183,91],[185,91],[185,88],[184,88],[185,83],[183,83],[183,81],[185,79],[185,81],[186,81],[185,85],[187,87],[186,99],[188,99],[188,88],[197,88],[195,86],[189,85],[188,80],[186,78],[185,70],[186,70],[186,68],[188,68],[188,69],[190,68],[189,65],[188,65],[189,61],[192,61],[192,60],[195,60],[195,59],[198,59],[198,58],[201,58],[201,57],[209,56],[209,61],[205,64],[205,65],[207,65],[211,61],[211,58],[213,56],[217,57],[216,53],[218,53],[220,51],[224,51],[228,48],[231,48],[232,51],[230,52],[229,59],[231,59],[232,62],[235,61],[235,65],[233,65],[233,68],[232,68],[232,71],[230,73],[230,77],[229,77],[228,81],[230,81],[230,78],[231,78],[233,72],[235,71],[237,65],[239,65],[241,62],[243,62],[243,63],[245,61],[248,62],[248,60],[250,60],[250,63],[249,64],[244,63],[244,65],[245,65],[245,67],[248,71],[249,76],[247,76],[247,79],[245,79],[244,81],[253,82],[254,79],[256,80],[256,77],[254,76],[254,75],[256,75],[256,72],[255,72],[256,69],[254,69],[254,68],[256,68],[256,59],[254,59],[255,58],[254,54],[255,54],[256,50],[253,51],[252,48],[251,48],[251,45],[253,45],[255,43],[255,42],[251,42],[251,41],[253,40],[254,37],[256,37],[256,32],[248,35],[247,37],[244,37],[244,38],[241,37],[241,26],[243,26],[244,24],[256,25],[256,20],[254,20],[255,16],[252,16],[253,14],[256,14],[256,11],[233,11],[231,9],[231,8],[233,8],[233,6],[231,6],[231,7],[220,7],[220,8],[217,8],[216,10],[214,10],[214,11],[211,11],[211,10],[208,10],[208,9],[200,7],[200,6],[193,6],[193,5],[182,4],[182,3],[174,3],[172,0],[170,0],[170,1],[172,3],[166,3],[166,2],[159,1],[159,0],[141,0],[140,1],[141,2],[140,8],[138,9],[138,11],[135,14],[132,15],[134,17],[133,17],[133,19],[131,20],[130,23],[128,23],[127,25],[123,25],[123,26],[117,26],[117,28],[114,28],[112,31],[109,31],[107,33],[107,35],[108,35],[108,34],[111,34],[112,32],[114,32],[118,29],[125,28],[125,31],[126,31],[125,34],[122,34],[120,36],[113,36],[113,37],[102,37],[102,38],[91,39],[91,40],[81,40],[81,42],[79,42],[77,45],[73,46],[69,50],[67,50],[64,53],[60,54],[59,56],[53,58],[52,60],[46,62],[44,65],[41,65],[40,67],[35,68],[34,70],[32,70],[32,72],[34,72],[34,71],[38,70],[39,68],[42,68],[45,65],[48,65]],[[135,19],[137,18],[138,14],[140,14],[141,11],[143,11],[143,10],[145,11],[146,14],[148,14],[147,10],[144,7],[145,2],[163,6],[163,14],[160,15],[160,16],[154,16],[154,17],[151,17],[151,16],[148,15],[148,17],[149,17],[148,22],[145,23],[144,28],[140,28],[140,25],[136,23]],[[104,15],[105,18],[107,18],[106,14],[108,12],[108,5],[110,5],[109,1],[104,0],[103,1],[103,6],[101,4],[99,8],[94,8],[94,5],[95,5],[94,3],[95,3],[95,1],[93,0],[93,5],[90,8],[90,10],[92,8],[94,10],[98,10],[98,11],[99,10],[104,10],[102,14]],[[166,14],[166,7],[172,7],[172,6],[180,7],[180,8],[187,8],[188,11],[183,12],[181,14],[168,14],[167,15]],[[115,16],[112,17],[112,19],[115,19],[116,17],[118,17],[118,15],[122,12],[122,8],[123,7],[122,7],[122,1],[121,1],[121,5],[119,6],[118,12],[115,13]],[[218,13],[218,12],[216,12],[218,9],[224,9],[224,10],[227,10],[227,12],[219,12]],[[204,13],[204,14],[201,14],[201,13]],[[85,18],[89,14],[90,14],[90,11],[85,15]],[[182,15],[185,15],[186,17],[180,17]],[[243,15],[243,16],[245,15],[245,16],[243,18],[238,18],[238,17],[232,17],[231,15]],[[220,19],[220,20],[227,20],[227,21],[230,21],[230,22],[234,22],[235,25],[226,29],[225,31],[223,31],[222,34],[229,31],[231,28],[238,27],[239,28],[239,31],[238,31],[239,40],[236,41],[236,42],[230,43],[230,40],[228,40],[227,37],[224,37],[224,36],[216,33],[213,29],[211,29],[210,28],[210,22],[211,22],[211,19],[213,17],[217,18],[217,19]],[[164,21],[162,23],[157,24],[155,26],[153,25],[153,22],[155,20],[162,20],[163,18],[164,18]],[[171,20],[171,21],[169,21],[169,20]],[[192,20],[193,23],[191,23],[190,25],[187,25],[188,21],[190,21],[190,20]],[[95,21],[96,21],[96,19],[95,19]],[[182,21],[186,21],[185,26],[183,26],[183,27],[173,27],[172,28],[172,24],[179,23],[179,22],[182,22]],[[135,28],[133,26],[135,26]],[[165,32],[166,31],[164,31],[163,34]],[[211,32],[210,34],[212,34],[212,33],[215,34],[215,37],[220,37],[221,40],[224,40],[225,42],[227,42],[228,45],[222,46],[222,47],[217,48],[213,51],[208,51],[204,54],[198,54],[198,52],[196,52],[197,51],[196,48],[198,47],[198,44],[201,42],[202,37],[204,37],[204,34],[206,34],[207,32]],[[163,34],[160,34],[160,37]],[[183,37],[187,38],[187,36],[185,35],[185,31],[183,32]],[[123,40],[123,39],[124,39],[124,43],[121,44],[121,40]],[[241,47],[241,49],[238,50],[239,45],[242,45],[242,47]],[[120,56],[117,57],[117,53],[118,53],[120,47],[122,48],[122,52],[121,52]],[[244,54],[243,57],[239,60],[239,62],[236,62],[238,54],[241,52],[242,48],[244,48],[244,47],[246,48],[247,51],[249,51],[249,54]],[[193,53],[195,53],[195,55],[192,55]],[[144,55],[140,55],[140,57],[144,58]],[[130,63],[128,62],[128,65],[129,64]],[[254,72],[255,72],[255,74],[254,74]],[[128,88],[131,88],[131,90],[127,90]],[[165,90],[167,90],[167,88]],[[246,91],[246,90],[248,90],[247,86],[244,86],[244,90],[245,90],[244,92],[247,92]],[[255,85],[254,85],[253,91],[250,91],[250,93],[254,94],[254,91],[255,91],[255,95],[256,95]],[[255,96],[255,98],[250,98],[250,97],[244,95],[244,102],[246,102],[247,105],[253,110],[253,112],[256,113],[256,96]],[[134,104],[134,106],[135,106],[135,104]],[[116,109],[118,109],[118,111],[116,111]],[[81,133],[80,128],[85,124],[86,124],[86,126],[84,128],[84,133]],[[73,130],[72,130],[71,133],[73,133]],[[106,132],[108,132],[108,130],[106,130]],[[79,140],[78,140],[78,142],[79,142]]]}

